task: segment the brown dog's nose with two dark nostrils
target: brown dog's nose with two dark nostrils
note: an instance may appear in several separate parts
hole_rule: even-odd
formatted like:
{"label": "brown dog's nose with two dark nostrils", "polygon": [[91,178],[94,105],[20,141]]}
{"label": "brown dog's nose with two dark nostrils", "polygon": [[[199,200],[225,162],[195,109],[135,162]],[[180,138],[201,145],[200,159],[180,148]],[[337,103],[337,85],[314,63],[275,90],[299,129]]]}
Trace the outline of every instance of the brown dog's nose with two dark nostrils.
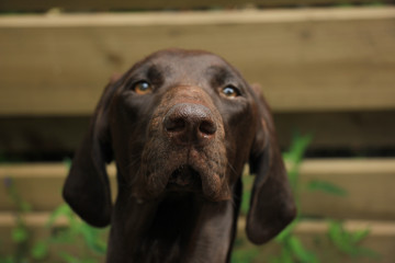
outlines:
{"label": "brown dog's nose with two dark nostrils", "polygon": [[217,130],[208,107],[201,104],[180,103],[172,106],[163,118],[167,135],[177,144],[205,144]]}

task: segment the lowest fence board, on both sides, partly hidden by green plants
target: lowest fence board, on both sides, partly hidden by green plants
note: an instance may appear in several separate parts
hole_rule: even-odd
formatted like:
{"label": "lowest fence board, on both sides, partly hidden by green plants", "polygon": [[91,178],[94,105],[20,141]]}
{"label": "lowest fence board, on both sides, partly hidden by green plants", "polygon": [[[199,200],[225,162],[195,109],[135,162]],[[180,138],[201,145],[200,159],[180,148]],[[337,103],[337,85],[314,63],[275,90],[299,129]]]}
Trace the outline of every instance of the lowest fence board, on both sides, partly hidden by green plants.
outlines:
{"label": "lowest fence board, on both sides, partly hidden by green plants", "polygon": [[[24,217],[26,221],[26,226],[30,229],[31,238],[33,240],[43,240],[48,237],[50,231],[54,229],[45,228],[45,224],[48,220],[47,214],[30,214]],[[10,214],[0,214],[0,237],[2,238],[2,251],[13,251],[13,244],[11,242],[11,228],[14,226],[13,216]],[[64,221],[59,221],[55,225],[56,227],[65,227],[67,226]],[[381,255],[380,261],[371,258],[358,258],[359,263],[372,263],[372,262],[381,262],[381,263],[393,263],[393,259],[395,259],[394,253],[394,242],[395,242],[395,222],[394,221],[360,221],[360,220],[347,220],[343,224],[345,228],[348,231],[358,231],[363,229],[370,229],[370,233],[368,238],[365,238],[361,245],[364,248],[369,248],[370,250],[375,251]],[[240,218],[238,224],[238,235],[239,239],[237,245],[234,249],[234,253],[237,253],[238,250],[252,250],[257,254],[257,262],[262,262],[262,259],[268,259],[269,256],[276,255],[279,253],[279,245],[275,242],[270,242],[264,244],[263,247],[257,247],[246,241],[245,237],[245,219]],[[56,230],[56,228],[55,228]],[[326,238],[327,232],[327,222],[323,220],[316,221],[303,221],[298,224],[295,229],[296,237],[303,242],[303,244],[308,248],[311,251],[314,251],[323,263],[332,263],[332,262],[342,262],[342,263],[351,263],[357,262],[356,259],[351,256],[346,256],[342,253],[336,252],[334,245],[328,243]],[[242,247],[240,247],[242,244]],[[80,245],[80,247],[79,247]],[[77,249],[78,248],[78,249]],[[75,244],[72,253],[76,255],[76,251],[81,251],[83,245]],[[54,256],[56,256],[55,252],[72,251],[70,245],[68,247],[52,247],[50,254],[48,259],[44,262],[56,262]],[[9,253],[10,254],[10,253]],[[87,252],[84,253],[87,255]]]}

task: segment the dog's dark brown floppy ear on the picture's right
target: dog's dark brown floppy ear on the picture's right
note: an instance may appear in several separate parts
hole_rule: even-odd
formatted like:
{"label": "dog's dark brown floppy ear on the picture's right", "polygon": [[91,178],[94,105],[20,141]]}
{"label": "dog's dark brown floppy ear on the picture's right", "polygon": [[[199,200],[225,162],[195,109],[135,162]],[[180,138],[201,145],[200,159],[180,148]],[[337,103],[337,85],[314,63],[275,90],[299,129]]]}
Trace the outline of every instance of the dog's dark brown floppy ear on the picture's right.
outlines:
{"label": "dog's dark brown floppy ear on the picture's right", "polygon": [[292,221],[296,208],[270,108],[260,87],[253,85],[252,89],[257,94],[260,124],[250,153],[250,170],[256,179],[247,217],[247,236],[252,242],[261,244]]}

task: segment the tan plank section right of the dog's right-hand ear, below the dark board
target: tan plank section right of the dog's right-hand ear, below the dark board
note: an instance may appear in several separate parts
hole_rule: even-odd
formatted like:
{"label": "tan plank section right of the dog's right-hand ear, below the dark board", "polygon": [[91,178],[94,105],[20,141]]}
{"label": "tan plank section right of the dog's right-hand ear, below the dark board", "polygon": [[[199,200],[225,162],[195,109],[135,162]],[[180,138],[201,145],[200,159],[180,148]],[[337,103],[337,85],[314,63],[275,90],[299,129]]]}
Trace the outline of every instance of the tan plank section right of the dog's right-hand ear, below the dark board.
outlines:
{"label": "tan plank section right of the dog's right-hand ear, below the dark board", "polygon": [[301,174],[305,185],[320,180],[347,191],[347,196],[336,196],[305,190],[301,195],[305,215],[395,219],[394,159],[308,160]]}

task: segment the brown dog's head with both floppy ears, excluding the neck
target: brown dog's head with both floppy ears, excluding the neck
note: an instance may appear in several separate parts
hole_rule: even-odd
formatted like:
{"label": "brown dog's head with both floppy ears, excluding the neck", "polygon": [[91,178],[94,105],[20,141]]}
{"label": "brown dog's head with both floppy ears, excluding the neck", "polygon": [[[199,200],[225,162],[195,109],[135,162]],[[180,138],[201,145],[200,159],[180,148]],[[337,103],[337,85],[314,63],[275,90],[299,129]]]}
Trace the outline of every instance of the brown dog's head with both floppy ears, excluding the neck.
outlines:
{"label": "brown dog's head with both floppy ears, excluding the neck", "polygon": [[292,220],[295,208],[258,90],[210,53],[150,55],[104,90],[66,181],[66,201],[91,225],[108,225],[105,162],[115,160],[119,181],[140,202],[169,192],[223,202],[233,198],[249,162],[257,178],[247,233],[266,242]]}

